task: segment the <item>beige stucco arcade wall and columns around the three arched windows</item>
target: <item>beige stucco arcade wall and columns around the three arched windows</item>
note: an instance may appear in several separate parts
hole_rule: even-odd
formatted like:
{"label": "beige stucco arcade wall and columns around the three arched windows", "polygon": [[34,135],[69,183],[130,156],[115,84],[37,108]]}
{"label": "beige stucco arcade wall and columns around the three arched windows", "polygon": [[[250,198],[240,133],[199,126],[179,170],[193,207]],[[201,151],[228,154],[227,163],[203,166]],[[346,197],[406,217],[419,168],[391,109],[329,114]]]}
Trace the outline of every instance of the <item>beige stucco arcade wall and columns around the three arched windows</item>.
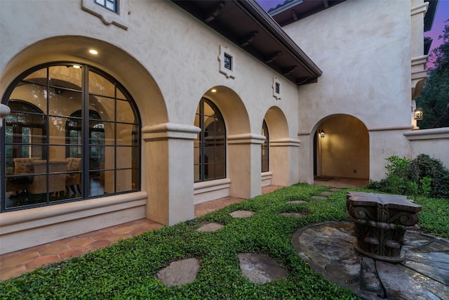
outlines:
{"label": "beige stucco arcade wall and columns around the three arched windows", "polygon": [[[267,122],[274,131],[274,147],[279,148],[272,152],[273,159],[281,166],[276,164],[272,171],[272,183],[289,185],[299,179],[295,84],[170,1],[121,3],[128,11],[122,11],[127,30],[106,25],[98,15],[84,11],[81,0],[0,1],[2,97],[13,79],[30,67],[75,61],[99,67],[120,81],[133,96],[142,119],[141,193],[121,197],[123,201],[113,209],[93,209],[89,200],[72,202],[69,220],[63,209],[58,213],[59,206],[37,209],[39,216],[32,221],[27,221],[31,210],[6,212],[1,231],[5,226],[12,231],[0,235],[0,244],[8,244],[2,253],[143,216],[168,225],[192,219],[194,198],[201,190],[193,179],[193,140],[198,133],[193,124],[204,94],[222,112],[232,143],[227,148],[228,178],[226,183],[217,181],[225,186],[224,192],[212,189],[205,196],[206,191],[201,201],[223,195],[260,195],[260,132],[265,116],[281,116]],[[219,72],[220,46],[234,54],[234,79]],[[98,56],[89,54],[89,48],[97,49]],[[280,100],[273,97],[274,77],[281,82]],[[217,88],[215,96],[210,94],[212,87]],[[276,114],[269,113],[273,111]],[[138,205],[127,202],[130,197],[137,197]],[[48,234],[39,241],[29,238],[41,235],[42,228]]]}

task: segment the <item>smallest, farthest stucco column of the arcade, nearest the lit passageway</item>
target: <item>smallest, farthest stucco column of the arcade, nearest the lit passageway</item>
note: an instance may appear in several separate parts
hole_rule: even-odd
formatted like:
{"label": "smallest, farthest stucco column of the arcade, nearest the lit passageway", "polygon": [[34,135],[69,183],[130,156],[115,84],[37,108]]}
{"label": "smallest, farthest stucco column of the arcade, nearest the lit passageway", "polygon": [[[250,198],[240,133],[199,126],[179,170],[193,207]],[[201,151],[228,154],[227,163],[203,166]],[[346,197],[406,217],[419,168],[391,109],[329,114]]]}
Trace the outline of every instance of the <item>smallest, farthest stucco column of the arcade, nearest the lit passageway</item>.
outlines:
{"label": "smallest, farthest stucco column of the arcade, nearest the lit passageway", "polygon": [[272,185],[288,186],[300,180],[300,141],[279,138],[269,142],[269,169],[273,172]]}

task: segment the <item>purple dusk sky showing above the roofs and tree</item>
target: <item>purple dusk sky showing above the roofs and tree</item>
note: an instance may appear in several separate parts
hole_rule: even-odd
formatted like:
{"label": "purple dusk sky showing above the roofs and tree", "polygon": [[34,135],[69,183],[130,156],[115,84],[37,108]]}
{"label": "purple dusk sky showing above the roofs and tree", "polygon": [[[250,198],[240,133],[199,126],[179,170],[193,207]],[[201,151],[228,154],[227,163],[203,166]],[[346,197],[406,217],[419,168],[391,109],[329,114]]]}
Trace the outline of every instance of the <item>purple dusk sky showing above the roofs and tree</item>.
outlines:
{"label": "purple dusk sky showing above the roofs and tree", "polygon": [[[270,8],[276,7],[278,4],[283,4],[285,0],[256,0],[265,11],[268,11]],[[444,25],[449,25],[445,23],[445,20],[449,19],[449,0],[440,0],[438,2],[438,7],[436,8],[436,15],[434,19],[434,25],[432,26],[432,30],[429,32],[424,32],[424,37],[431,37],[434,41],[432,41],[430,51],[433,48],[438,47],[443,43],[443,39],[438,40],[438,36],[443,34]]]}

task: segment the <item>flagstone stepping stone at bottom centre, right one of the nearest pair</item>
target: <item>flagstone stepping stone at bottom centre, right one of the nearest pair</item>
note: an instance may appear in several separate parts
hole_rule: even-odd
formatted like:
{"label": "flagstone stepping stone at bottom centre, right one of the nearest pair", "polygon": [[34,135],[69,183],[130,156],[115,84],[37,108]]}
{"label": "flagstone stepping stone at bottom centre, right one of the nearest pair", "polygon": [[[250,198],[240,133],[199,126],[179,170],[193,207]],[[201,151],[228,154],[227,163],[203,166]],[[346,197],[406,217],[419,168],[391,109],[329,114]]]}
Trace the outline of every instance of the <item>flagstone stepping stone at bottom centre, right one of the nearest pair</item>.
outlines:
{"label": "flagstone stepping stone at bottom centre, right one of the nearest pair", "polygon": [[277,261],[266,254],[240,253],[240,269],[250,282],[267,283],[286,278],[288,270],[282,268]]}

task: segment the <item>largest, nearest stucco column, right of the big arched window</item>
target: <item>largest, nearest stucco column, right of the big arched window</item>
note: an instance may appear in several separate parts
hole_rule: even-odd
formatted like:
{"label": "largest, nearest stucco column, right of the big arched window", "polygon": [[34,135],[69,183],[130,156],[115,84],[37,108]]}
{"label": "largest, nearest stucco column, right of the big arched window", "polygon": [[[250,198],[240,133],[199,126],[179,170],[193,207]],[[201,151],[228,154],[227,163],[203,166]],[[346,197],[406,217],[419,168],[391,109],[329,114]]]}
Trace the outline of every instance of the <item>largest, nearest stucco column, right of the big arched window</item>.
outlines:
{"label": "largest, nearest stucco column, right of the big arched window", "polygon": [[163,123],[142,129],[147,218],[165,225],[194,219],[196,126]]}

